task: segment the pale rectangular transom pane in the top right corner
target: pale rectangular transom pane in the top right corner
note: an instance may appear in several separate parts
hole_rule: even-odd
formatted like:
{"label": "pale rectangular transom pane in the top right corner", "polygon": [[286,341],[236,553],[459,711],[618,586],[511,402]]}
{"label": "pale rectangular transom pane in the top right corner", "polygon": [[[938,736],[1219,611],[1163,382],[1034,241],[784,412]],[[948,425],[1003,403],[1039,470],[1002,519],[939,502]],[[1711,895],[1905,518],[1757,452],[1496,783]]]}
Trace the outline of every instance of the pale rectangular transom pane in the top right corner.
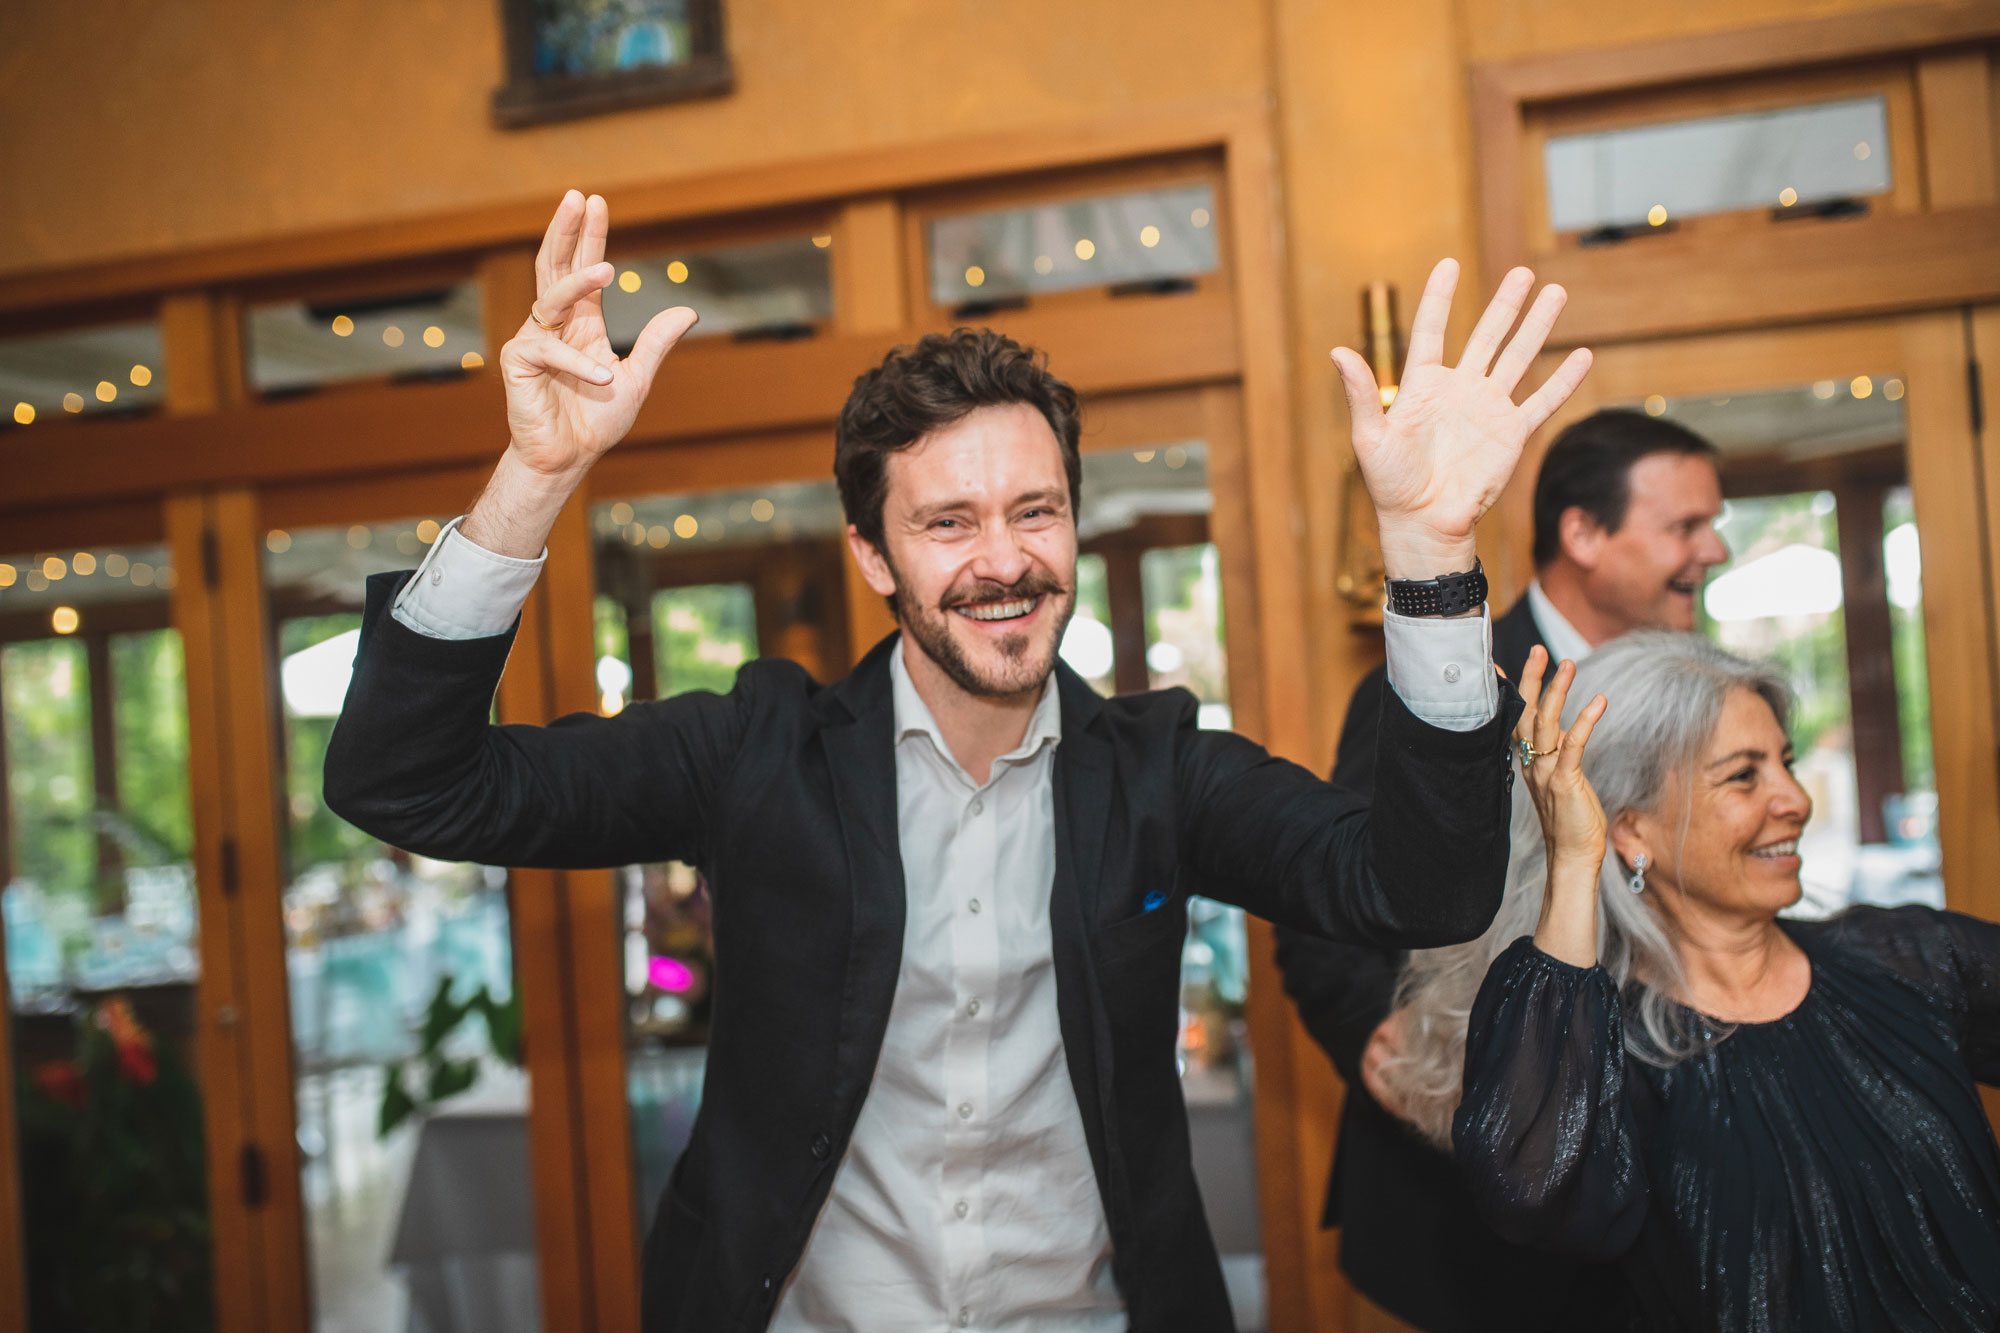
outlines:
{"label": "pale rectangular transom pane in the top right corner", "polygon": [[1558,232],[1644,226],[1738,208],[1810,206],[1890,186],[1882,98],[1704,116],[1548,140]]}

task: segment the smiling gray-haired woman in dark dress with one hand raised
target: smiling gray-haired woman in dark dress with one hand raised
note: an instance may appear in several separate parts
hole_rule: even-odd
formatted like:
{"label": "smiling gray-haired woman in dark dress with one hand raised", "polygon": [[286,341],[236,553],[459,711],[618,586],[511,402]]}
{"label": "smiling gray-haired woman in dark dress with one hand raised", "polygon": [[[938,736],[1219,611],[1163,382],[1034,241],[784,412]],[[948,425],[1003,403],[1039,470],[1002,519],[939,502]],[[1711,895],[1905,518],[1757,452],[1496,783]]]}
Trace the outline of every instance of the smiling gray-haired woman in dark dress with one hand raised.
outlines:
{"label": "smiling gray-haired woman in dark dress with one hand raised", "polygon": [[1500,919],[1404,979],[1404,1111],[1504,1237],[1614,1261],[1630,1327],[1994,1329],[2000,927],[1780,921],[1812,801],[1772,671],[1644,632],[1540,677]]}

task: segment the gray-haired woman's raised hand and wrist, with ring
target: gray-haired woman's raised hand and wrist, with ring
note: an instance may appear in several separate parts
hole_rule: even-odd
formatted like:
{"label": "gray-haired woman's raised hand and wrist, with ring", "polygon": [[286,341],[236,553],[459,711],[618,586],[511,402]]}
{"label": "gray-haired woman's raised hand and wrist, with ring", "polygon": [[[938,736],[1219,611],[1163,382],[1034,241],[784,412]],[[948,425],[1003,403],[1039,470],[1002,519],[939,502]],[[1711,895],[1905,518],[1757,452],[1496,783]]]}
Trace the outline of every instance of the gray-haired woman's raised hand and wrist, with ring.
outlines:
{"label": "gray-haired woman's raised hand and wrist, with ring", "polygon": [[1520,769],[1528,797],[1542,819],[1542,843],[1548,849],[1548,895],[1542,899],[1542,923],[1534,943],[1548,955],[1590,967],[1598,957],[1598,873],[1604,867],[1606,821],[1598,793],[1584,777],[1584,745],[1590,729],[1604,717],[1604,695],[1584,705],[1568,731],[1562,727],[1562,707],[1576,679],[1576,662],[1562,662],[1544,689],[1548,650],[1534,648],[1520,673],[1520,697],[1526,703],[1514,727],[1514,745],[1522,749]]}

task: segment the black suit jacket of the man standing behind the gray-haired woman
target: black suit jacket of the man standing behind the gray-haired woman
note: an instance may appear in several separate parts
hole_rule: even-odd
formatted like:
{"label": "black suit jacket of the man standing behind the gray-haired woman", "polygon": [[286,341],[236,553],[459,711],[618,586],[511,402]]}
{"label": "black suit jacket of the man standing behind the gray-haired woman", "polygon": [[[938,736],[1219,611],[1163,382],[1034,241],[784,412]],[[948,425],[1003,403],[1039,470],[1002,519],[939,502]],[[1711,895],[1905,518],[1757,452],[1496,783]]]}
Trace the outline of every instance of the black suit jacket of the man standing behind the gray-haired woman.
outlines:
{"label": "black suit jacket of the man standing behind the gray-haired woman", "polygon": [[[1494,620],[1494,664],[1520,679],[1548,642],[1528,598]],[[1376,799],[1386,673],[1354,689],[1332,781]],[[1384,795],[1384,799],[1388,799]],[[1380,803],[1378,803],[1380,809]],[[1348,1085],[1322,1227],[1340,1227],[1340,1267],[1370,1301],[1426,1333],[1604,1329],[1616,1279],[1594,1265],[1508,1245],[1478,1219],[1450,1155],[1368,1095],[1360,1059],[1388,1017],[1404,951],[1334,943],[1278,929],[1278,967],[1306,1031]]]}

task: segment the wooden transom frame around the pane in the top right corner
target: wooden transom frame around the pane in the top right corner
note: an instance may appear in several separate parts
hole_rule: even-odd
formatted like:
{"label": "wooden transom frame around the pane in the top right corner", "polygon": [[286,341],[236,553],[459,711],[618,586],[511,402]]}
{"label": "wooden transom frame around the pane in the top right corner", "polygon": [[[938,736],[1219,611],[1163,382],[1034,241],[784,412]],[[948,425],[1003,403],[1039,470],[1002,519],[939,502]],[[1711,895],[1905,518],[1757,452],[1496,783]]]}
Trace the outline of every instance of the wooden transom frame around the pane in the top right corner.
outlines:
{"label": "wooden transom frame around the pane in the top right corner", "polygon": [[[1738,28],[1634,46],[1476,64],[1472,130],[1488,274],[1530,264],[1570,288],[1556,336],[1564,346],[1612,338],[1774,324],[1816,316],[1908,310],[2000,296],[2000,192],[1992,52],[2000,0]],[[1728,220],[1642,246],[1556,246],[1540,218],[1540,138],[1548,124],[1592,114],[1662,118],[1754,104],[1764,92],[1852,86],[1894,66],[1916,114],[1890,106],[1898,172],[1918,168],[1924,206],[1908,186],[1870,216],[1838,222],[1736,226]],[[1894,86],[1896,78],[1890,80]],[[1900,92],[1896,94],[1902,96]],[[1636,110],[1634,110],[1636,108]],[[1652,108],[1652,110],[1646,110]],[[1538,130],[1540,126],[1540,130]]]}

